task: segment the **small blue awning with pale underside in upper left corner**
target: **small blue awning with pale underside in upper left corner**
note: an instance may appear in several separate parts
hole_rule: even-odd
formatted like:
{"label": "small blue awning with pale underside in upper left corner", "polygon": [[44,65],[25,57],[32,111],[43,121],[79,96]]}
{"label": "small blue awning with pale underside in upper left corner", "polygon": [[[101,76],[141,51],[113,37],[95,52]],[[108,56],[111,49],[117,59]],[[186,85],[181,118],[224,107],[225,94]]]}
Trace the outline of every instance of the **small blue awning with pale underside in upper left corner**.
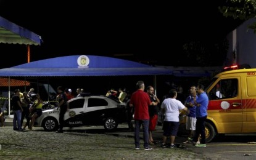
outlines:
{"label": "small blue awning with pale underside in upper left corner", "polygon": [[0,17],[0,43],[40,45],[41,36]]}

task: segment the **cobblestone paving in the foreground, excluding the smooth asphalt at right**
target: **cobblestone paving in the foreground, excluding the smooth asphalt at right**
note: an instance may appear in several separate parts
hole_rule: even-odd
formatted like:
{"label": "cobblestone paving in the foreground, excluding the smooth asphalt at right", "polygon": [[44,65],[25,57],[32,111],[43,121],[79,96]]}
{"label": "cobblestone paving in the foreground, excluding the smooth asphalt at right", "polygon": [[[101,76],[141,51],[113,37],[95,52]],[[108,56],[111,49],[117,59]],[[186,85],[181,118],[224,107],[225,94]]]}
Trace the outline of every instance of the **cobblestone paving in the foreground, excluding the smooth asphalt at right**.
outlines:
{"label": "cobblestone paving in the foreground, excluding the smooth asphalt at right", "polygon": [[[7,119],[7,122],[10,119]],[[0,159],[206,159],[184,148],[134,150],[133,132],[127,125],[115,132],[105,132],[101,126],[65,128],[64,134],[46,132],[41,127],[32,131],[14,131],[11,122],[0,127]],[[142,138],[142,134],[141,134]],[[154,132],[156,141],[162,138],[162,127]],[[180,139],[181,140],[181,139]],[[142,145],[141,139],[141,146]],[[177,142],[179,143],[179,142]]]}

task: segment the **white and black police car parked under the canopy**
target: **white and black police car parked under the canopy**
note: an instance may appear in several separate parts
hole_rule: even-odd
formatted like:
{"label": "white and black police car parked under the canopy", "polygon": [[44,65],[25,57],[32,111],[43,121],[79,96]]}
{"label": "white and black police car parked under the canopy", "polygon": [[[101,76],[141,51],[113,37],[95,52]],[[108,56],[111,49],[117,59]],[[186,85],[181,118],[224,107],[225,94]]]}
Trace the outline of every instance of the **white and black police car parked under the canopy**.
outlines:
{"label": "white and black police car parked under the canopy", "polygon": [[[126,122],[125,103],[112,98],[89,95],[75,97],[68,101],[69,109],[64,116],[64,127],[104,126],[106,130],[116,129],[118,124]],[[58,108],[43,110],[35,125],[52,131],[59,128]]]}

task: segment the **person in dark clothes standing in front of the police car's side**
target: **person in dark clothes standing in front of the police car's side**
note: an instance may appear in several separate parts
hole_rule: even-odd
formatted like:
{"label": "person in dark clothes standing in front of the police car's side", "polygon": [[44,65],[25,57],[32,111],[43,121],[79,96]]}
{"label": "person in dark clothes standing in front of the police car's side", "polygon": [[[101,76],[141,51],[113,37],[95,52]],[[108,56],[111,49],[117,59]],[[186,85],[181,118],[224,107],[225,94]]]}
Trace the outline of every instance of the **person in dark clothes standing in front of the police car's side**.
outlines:
{"label": "person in dark clothes standing in front of the police car's side", "polygon": [[59,102],[59,130],[56,131],[56,133],[63,133],[63,127],[64,127],[64,114],[66,113],[68,109],[68,102],[67,102],[67,96],[64,92],[64,87],[59,86],[57,87],[57,92],[59,95],[57,95],[56,100]]}

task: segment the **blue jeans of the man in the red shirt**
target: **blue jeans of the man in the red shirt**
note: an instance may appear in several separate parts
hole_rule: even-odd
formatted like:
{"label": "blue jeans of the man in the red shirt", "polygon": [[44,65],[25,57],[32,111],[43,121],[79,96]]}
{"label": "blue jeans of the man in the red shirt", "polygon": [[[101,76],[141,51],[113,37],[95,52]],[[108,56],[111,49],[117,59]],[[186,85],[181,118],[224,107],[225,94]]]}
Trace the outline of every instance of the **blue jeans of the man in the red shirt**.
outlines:
{"label": "blue jeans of the man in the red shirt", "polygon": [[142,124],[144,148],[149,147],[149,119],[134,120],[134,140],[135,147],[139,147],[139,130]]}

